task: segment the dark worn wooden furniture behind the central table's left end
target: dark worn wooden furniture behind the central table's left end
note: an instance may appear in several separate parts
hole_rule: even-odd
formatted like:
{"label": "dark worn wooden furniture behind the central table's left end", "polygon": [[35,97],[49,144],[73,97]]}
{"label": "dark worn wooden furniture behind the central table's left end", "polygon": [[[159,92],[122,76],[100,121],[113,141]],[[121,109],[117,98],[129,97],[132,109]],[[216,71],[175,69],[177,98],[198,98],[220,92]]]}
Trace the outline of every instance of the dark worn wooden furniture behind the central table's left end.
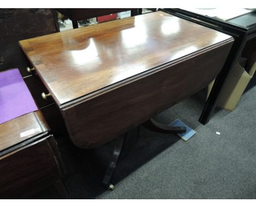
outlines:
{"label": "dark worn wooden furniture behind the central table's left end", "polygon": [[0,71],[19,68],[27,76],[27,62],[19,40],[56,33],[52,9],[0,9]]}

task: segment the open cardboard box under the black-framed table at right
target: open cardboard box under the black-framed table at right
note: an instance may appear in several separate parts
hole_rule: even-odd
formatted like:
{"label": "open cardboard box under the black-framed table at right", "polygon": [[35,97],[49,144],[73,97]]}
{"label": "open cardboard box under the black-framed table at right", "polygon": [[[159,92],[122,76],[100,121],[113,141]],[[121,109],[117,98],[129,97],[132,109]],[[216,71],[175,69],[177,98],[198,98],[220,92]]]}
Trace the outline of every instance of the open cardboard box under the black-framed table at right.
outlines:
{"label": "open cardboard box under the black-framed table at right", "polygon": [[[244,59],[240,63],[244,63]],[[219,95],[217,106],[229,111],[234,111],[237,102],[240,100],[245,91],[249,81],[256,70],[256,52],[248,59],[251,69],[245,70],[240,63],[236,65],[228,77],[222,93]],[[243,64],[244,65],[244,64]],[[248,72],[247,72],[248,71]],[[214,81],[208,85],[207,97],[210,94]]]}

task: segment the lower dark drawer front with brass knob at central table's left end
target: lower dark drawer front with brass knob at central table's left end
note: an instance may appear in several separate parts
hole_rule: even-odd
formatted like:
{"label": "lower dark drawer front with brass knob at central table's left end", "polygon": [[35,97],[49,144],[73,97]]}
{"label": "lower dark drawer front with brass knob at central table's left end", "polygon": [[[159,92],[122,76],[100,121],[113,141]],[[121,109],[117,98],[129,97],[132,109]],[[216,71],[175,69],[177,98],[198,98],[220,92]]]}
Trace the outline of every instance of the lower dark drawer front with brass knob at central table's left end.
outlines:
{"label": "lower dark drawer front with brass knob at central table's left end", "polygon": [[27,87],[30,90],[31,95],[34,101],[36,101],[37,106],[39,108],[42,108],[53,103],[53,100],[51,98],[48,98],[47,100],[43,99],[41,94],[43,92],[48,93],[48,90],[45,88],[44,84],[37,75],[25,77],[24,81],[27,84]]}

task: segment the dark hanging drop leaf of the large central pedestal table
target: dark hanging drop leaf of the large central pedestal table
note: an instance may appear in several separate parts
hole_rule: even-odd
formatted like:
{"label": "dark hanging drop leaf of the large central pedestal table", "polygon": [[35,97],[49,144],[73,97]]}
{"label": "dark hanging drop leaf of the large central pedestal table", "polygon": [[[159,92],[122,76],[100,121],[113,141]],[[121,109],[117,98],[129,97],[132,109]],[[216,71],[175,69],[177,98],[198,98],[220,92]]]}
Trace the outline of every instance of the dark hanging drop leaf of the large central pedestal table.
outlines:
{"label": "dark hanging drop leaf of the large central pedestal table", "polygon": [[95,148],[205,88],[222,69],[232,42],[160,66],[150,74],[63,109],[69,136]]}

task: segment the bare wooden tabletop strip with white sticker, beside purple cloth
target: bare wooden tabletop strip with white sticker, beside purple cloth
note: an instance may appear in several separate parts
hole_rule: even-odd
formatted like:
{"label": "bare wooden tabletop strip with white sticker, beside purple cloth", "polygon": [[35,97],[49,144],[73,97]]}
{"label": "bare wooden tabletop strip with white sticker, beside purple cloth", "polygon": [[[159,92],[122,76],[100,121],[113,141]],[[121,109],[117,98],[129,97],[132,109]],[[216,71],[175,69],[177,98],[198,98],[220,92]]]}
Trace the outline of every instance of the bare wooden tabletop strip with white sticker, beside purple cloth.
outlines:
{"label": "bare wooden tabletop strip with white sticker, beside purple cloth", "polygon": [[[20,133],[32,129],[34,129],[32,134],[20,137]],[[40,111],[31,112],[0,124],[0,151],[46,131],[49,131],[49,127]]]}

